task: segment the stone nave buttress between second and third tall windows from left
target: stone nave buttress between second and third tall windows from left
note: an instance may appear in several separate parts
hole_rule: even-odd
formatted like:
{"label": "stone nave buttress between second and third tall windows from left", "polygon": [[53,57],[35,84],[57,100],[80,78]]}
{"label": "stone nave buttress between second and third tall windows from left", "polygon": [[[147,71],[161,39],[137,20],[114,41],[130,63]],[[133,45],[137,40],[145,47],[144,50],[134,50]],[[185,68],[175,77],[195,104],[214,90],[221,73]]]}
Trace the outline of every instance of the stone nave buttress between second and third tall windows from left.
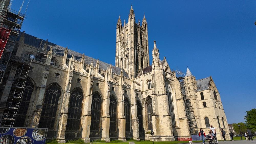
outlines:
{"label": "stone nave buttress between second and third tall windows from left", "polygon": [[60,119],[59,119],[59,127],[57,133],[57,141],[58,143],[66,143],[65,141],[65,131],[68,121],[68,105],[70,99],[70,87],[73,78],[73,68],[74,68],[74,57],[72,56],[71,60],[69,61],[69,68],[68,68],[68,77],[66,80],[65,92],[62,101],[62,107],[60,112]]}

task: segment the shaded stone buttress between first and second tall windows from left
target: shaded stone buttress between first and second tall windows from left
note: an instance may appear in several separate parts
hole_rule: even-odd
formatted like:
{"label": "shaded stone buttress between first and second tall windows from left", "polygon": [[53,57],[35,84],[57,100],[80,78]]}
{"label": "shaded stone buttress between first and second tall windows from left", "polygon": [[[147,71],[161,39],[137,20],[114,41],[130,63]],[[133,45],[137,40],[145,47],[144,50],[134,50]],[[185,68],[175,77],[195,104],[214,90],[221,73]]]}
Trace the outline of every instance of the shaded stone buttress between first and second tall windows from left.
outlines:
{"label": "shaded stone buttress between first and second tall windows from left", "polygon": [[40,116],[42,113],[42,104],[44,101],[44,95],[45,95],[45,90],[46,90],[46,83],[48,79],[48,74],[50,70],[50,64],[51,64],[51,58],[52,58],[52,48],[47,54],[45,66],[44,66],[44,71],[43,71],[43,76],[42,76],[42,83],[41,86],[39,86],[39,95],[38,99],[36,101],[36,110],[34,111],[34,116],[33,116],[33,121],[31,124],[31,127],[38,127]]}

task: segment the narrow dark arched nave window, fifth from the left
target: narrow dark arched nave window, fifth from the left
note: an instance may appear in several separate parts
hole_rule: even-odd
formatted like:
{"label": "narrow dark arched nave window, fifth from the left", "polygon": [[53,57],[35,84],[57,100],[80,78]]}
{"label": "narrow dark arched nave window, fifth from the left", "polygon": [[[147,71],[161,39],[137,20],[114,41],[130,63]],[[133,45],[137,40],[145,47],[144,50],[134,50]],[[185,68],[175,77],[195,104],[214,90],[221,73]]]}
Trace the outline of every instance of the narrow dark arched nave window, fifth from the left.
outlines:
{"label": "narrow dark arched nave window, fifth from the left", "polygon": [[116,99],[115,99],[115,96],[113,95],[110,97],[109,115],[110,115],[109,131],[116,131]]}

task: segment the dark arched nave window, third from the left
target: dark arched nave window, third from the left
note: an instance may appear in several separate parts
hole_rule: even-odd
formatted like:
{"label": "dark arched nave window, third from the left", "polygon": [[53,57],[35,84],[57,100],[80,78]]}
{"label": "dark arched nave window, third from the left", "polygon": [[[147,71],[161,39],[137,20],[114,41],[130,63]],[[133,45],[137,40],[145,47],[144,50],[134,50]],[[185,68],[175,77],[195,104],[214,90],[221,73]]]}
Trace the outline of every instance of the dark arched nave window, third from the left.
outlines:
{"label": "dark arched nave window, third from the left", "polygon": [[80,89],[74,90],[69,100],[67,130],[79,130],[82,102],[83,92]]}

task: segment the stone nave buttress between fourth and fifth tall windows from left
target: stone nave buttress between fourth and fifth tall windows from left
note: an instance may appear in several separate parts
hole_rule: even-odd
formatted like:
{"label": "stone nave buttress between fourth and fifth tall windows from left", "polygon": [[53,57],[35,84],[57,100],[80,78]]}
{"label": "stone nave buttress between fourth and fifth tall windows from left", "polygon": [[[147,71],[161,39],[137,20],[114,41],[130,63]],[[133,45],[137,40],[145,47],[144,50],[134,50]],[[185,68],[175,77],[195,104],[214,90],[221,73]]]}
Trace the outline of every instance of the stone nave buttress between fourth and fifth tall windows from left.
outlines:
{"label": "stone nave buttress between fourth and fifth tall windows from left", "polygon": [[109,70],[107,68],[106,76],[105,76],[105,88],[103,94],[103,113],[102,113],[102,137],[101,140],[105,140],[106,142],[110,141],[109,138],[109,123],[110,123],[110,115],[109,115],[109,95],[110,95],[110,84],[109,84]]}

